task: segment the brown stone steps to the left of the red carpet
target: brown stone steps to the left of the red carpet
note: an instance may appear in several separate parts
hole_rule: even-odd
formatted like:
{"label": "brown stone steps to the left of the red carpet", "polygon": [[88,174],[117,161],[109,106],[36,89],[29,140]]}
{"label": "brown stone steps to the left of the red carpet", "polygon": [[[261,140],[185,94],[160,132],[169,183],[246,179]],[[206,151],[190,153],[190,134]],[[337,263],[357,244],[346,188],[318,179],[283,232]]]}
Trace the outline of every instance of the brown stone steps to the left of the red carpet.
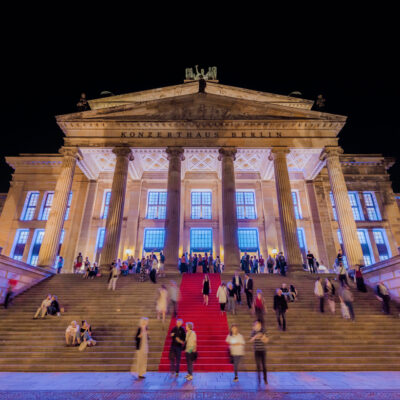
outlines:
{"label": "brown stone steps to the left of the red carpet", "polygon": [[[169,319],[163,327],[156,319],[157,284],[137,282],[136,275],[121,276],[115,292],[107,290],[107,278],[84,280],[79,275],[56,275],[32,287],[0,309],[0,371],[128,371],[135,359],[140,317],[149,318],[148,369],[156,371]],[[178,285],[180,276],[174,279]],[[61,317],[32,317],[47,293],[58,296],[65,307]],[[79,351],[65,346],[65,329],[72,320],[86,319],[97,346]]]}

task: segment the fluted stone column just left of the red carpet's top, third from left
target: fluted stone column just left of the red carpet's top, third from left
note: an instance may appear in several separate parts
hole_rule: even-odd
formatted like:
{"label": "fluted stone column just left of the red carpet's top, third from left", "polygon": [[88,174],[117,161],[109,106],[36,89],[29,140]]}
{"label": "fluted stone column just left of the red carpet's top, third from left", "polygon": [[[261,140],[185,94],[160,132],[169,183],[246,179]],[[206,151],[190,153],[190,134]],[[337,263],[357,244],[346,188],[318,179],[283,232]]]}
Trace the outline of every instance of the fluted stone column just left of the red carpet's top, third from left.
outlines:
{"label": "fluted stone column just left of the red carpet's top, third from left", "polygon": [[181,164],[185,159],[182,147],[168,147],[167,212],[165,218],[165,268],[176,271],[179,257],[181,217]]}

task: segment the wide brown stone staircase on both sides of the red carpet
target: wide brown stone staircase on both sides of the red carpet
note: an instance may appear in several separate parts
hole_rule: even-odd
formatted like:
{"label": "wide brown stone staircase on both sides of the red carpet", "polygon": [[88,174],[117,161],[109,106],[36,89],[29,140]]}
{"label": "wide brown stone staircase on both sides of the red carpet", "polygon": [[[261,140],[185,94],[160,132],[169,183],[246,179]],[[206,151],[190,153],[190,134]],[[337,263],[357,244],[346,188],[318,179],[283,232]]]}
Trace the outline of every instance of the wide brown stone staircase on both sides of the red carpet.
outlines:
{"label": "wide brown stone staircase on both sides of the red carpet", "polygon": [[[0,308],[0,371],[129,371],[142,316],[150,319],[148,369],[157,371],[170,321],[163,327],[156,319],[156,289],[170,279],[160,279],[154,285],[137,282],[136,275],[120,277],[115,292],[106,289],[106,277],[83,280],[78,275],[62,274],[41,282],[17,297],[8,310]],[[172,279],[180,283],[180,276]],[[230,279],[230,274],[222,276],[225,282]],[[392,307],[392,316],[383,315],[371,291],[364,294],[353,290],[356,322],[352,323],[341,318],[338,303],[336,315],[331,315],[327,307],[325,314],[319,313],[313,294],[315,276],[300,272],[286,278],[256,275],[253,279],[267,301],[270,371],[400,370],[396,306]],[[289,304],[287,332],[278,331],[272,310],[274,289],[282,282],[293,282],[299,290],[299,301]],[[215,292],[213,288],[211,296]],[[58,296],[65,313],[33,320],[47,293]],[[247,340],[254,317],[243,303],[236,316],[228,314],[228,323],[237,323]],[[71,320],[82,319],[91,323],[97,346],[80,352],[77,347],[65,347],[64,333]],[[210,327],[213,322],[210,320]],[[251,344],[246,345],[241,367],[255,370]]]}

